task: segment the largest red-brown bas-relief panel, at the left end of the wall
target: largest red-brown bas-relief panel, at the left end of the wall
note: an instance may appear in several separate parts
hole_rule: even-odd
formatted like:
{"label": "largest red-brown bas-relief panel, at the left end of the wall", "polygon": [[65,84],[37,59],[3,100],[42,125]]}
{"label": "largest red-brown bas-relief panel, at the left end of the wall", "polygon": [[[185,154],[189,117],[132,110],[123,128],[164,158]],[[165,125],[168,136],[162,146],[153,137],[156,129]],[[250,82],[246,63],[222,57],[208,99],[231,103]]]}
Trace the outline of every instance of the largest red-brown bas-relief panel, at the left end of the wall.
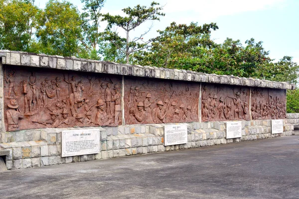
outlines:
{"label": "largest red-brown bas-relief panel, at the left end of the wall", "polygon": [[8,131],[121,124],[121,79],[91,73],[4,67]]}

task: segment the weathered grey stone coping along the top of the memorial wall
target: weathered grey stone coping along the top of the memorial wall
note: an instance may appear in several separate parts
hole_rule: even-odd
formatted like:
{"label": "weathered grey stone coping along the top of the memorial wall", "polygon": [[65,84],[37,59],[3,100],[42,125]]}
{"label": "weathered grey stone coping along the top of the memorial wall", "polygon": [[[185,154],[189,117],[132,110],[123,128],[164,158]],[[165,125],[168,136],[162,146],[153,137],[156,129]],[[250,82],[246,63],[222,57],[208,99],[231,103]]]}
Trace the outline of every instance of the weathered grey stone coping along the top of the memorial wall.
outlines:
{"label": "weathered grey stone coping along the top of the memorial wall", "polygon": [[295,84],[273,82],[253,78],[240,78],[227,75],[204,74],[194,71],[166,69],[150,66],[118,64],[114,62],[79,59],[76,57],[62,57],[58,55],[34,54],[19,51],[0,50],[2,64],[53,68],[93,73],[106,73],[125,76],[205,82],[215,84],[262,87],[273,89],[296,89]]}

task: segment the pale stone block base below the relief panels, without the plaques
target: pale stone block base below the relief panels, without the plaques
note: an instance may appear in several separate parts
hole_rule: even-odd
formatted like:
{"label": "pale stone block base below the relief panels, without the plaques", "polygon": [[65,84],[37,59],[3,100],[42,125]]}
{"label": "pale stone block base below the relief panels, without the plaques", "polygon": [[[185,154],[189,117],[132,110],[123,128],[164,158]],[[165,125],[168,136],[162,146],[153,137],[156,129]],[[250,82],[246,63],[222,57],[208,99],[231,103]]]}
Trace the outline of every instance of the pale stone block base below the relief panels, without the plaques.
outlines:
{"label": "pale stone block base below the relief panels, without the plaques", "polygon": [[61,131],[74,128],[21,130],[1,133],[0,150],[9,151],[5,156],[7,169],[25,169],[293,135],[298,118],[299,114],[288,114],[280,134],[271,134],[271,120],[242,121],[242,137],[235,139],[226,139],[226,122],[190,122],[188,143],[172,146],[163,145],[164,124],[89,127],[85,129],[100,129],[101,152],[64,158]]}

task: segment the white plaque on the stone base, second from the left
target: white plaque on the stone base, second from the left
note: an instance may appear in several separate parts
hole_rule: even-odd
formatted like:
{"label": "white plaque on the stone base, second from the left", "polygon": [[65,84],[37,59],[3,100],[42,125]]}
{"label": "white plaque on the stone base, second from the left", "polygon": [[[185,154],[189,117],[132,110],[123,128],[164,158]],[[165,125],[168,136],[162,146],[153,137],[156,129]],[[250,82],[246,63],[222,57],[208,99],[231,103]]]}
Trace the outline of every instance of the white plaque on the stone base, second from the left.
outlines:
{"label": "white plaque on the stone base, second from the left", "polygon": [[164,126],[164,146],[175,145],[175,144],[186,144],[187,138],[187,125],[167,125]]}

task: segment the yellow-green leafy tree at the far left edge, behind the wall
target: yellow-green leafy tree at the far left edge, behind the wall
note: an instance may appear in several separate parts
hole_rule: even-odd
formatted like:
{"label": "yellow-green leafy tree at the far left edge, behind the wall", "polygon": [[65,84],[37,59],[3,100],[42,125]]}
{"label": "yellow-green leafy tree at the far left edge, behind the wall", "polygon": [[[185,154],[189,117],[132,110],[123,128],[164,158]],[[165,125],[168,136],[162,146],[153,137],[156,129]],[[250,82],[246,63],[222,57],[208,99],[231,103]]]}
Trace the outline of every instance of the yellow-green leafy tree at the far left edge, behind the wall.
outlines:
{"label": "yellow-green leafy tree at the far left edge, behind the wall", "polygon": [[0,0],[0,49],[32,52],[39,11],[31,0]]}

